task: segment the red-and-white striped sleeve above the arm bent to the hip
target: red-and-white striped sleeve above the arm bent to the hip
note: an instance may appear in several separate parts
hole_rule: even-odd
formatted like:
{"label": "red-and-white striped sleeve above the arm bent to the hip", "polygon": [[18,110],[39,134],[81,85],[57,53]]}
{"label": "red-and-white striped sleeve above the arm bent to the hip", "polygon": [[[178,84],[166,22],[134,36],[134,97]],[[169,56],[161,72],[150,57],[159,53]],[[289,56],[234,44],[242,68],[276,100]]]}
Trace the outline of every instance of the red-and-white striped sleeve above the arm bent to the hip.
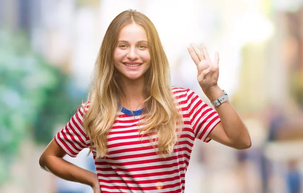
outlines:
{"label": "red-and-white striped sleeve above the arm bent to the hip", "polygon": [[87,137],[82,121],[86,112],[86,106],[78,108],[74,116],[64,128],[55,136],[57,144],[71,157],[77,157],[84,148],[89,148],[89,138]]}

